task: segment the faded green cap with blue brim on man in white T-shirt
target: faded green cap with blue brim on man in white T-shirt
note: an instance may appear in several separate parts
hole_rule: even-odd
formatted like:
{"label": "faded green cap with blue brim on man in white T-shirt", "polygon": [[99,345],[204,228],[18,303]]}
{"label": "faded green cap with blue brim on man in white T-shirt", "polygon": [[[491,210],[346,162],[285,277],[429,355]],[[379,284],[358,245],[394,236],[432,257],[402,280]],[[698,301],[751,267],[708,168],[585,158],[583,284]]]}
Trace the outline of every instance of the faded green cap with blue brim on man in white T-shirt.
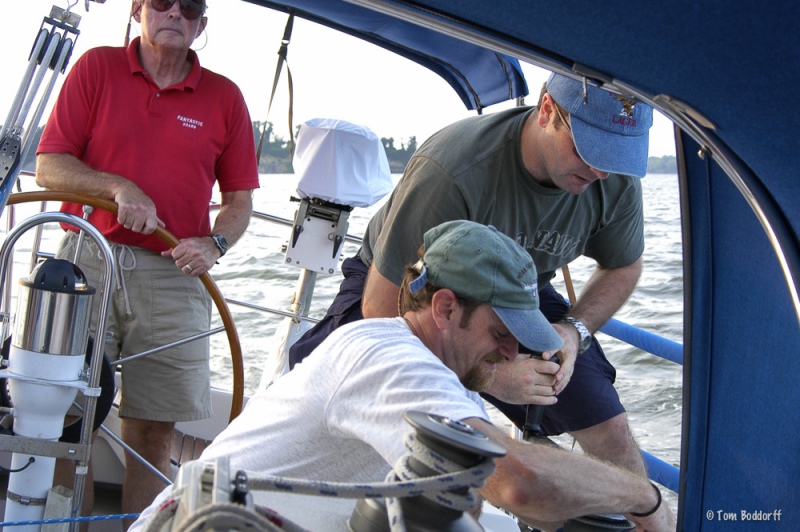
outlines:
{"label": "faded green cap with blue brim on man in white T-shirt", "polygon": [[425,254],[413,292],[426,281],[492,306],[519,343],[533,351],[563,341],[539,310],[536,266],[519,244],[492,226],[455,220],[425,233]]}

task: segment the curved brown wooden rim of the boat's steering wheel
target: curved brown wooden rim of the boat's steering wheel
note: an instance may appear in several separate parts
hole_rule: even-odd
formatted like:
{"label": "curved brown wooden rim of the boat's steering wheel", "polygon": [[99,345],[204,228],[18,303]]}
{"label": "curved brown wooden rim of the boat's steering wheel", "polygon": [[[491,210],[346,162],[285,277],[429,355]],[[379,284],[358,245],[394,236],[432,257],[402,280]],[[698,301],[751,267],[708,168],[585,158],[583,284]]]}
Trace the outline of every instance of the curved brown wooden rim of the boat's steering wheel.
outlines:
{"label": "curved brown wooden rim of the boat's steering wheel", "polygon": [[[96,209],[103,209],[113,214],[117,213],[117,205],[113,201],[104,200],[95,196],[87,194],[78,194],[75,192],[57,192],[57,191],[36,191],[36,192],[18,192],[11,194],[8,198],[8,205],[16,205],[19,203],[29,203],[36,201],[66,201],[70,203],[78,203],[80,205],[89,205]],[[154,233],[161,240],[166,242],[169,246],[175,247],[178,245],[178,239],[162,227],[156,228]],[[228,422],[233,421],[236,416],[242,411],[244,404],[244,364],[242,362],[242,346],[239,343],[239,335],[236,331],[236,326],[233,323],[230,309],[225,302],[225,298],[219,291],[217,284],[206,272],[199,276],[200,281],[205,286],[206,291],[211,296],[214,305],[217,307],[217,312],[225,326],[225,333],[228,336],[228,345],[231,351],[231,365],[233,366],[233,397],[231,400],[231,412]]]}

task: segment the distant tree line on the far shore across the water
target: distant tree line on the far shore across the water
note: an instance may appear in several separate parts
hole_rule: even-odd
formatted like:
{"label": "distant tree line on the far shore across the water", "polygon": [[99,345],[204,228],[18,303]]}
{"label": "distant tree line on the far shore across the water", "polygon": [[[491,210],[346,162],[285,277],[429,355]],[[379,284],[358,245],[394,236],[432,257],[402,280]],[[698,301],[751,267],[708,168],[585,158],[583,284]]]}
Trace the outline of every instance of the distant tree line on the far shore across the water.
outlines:
{"label": "distant tree line on the far shore across the water", "polygon": [[[34,146],[39,145],[39,138],[42,136],[44,126],[40,126],[36,131]],[[253,122],[253,136],[256,140],[256,148],[261,139],[261,132],[264,129],[264,122]],[[300,130],[300,126],[295,128],[295,138]],[[261,144],[261,158],[258,161],[258,171],[262,174],[291,174],[292,169],[291,143],[289,139],[275,134],[272,122],[266,122],[264,129],[264,141]],[[381,138],[383,148],[386,150],[386,158],[389,160],[389,168],[393,174],[401,174],[408,164],[408,160],[417,150],[417,137],[411,137],[407,141],[400,141],[400,147],[395,146],[394,137]],[[36,168],[36,149],[32,148],[22,165],[23,170],[33,171]],[[678,165],[674,155],[664,155],[662,157],[650,157],[647,161],[648,174],[677,174]]]}

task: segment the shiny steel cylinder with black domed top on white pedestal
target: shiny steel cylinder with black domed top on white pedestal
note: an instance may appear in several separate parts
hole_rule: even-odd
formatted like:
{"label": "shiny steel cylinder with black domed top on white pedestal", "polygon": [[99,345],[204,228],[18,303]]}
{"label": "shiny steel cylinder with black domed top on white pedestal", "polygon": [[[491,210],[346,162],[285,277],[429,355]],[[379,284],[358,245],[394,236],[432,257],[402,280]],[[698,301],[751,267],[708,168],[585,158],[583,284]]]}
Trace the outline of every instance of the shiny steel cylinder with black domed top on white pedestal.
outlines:
{"label": "shiny steel cylinder with black domed top on white pedestal", "polygon": [[83,357],[95,289],[69,261],[47,259],[20,279],[12,345],[34,353]]}

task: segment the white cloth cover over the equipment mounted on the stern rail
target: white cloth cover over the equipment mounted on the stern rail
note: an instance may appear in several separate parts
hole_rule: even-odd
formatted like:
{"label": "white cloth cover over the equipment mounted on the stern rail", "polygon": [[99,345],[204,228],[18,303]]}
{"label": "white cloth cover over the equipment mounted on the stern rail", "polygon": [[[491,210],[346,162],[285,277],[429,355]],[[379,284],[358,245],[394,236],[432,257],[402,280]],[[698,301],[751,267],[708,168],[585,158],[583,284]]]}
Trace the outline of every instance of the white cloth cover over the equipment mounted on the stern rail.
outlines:
{"label": "white cloth cover over the equipment mounted on the stern rail", "polygon": [[300,127],[292,166],[302,198],[369,207],[392,190],[389,161],[369,128],[330,118]]}

